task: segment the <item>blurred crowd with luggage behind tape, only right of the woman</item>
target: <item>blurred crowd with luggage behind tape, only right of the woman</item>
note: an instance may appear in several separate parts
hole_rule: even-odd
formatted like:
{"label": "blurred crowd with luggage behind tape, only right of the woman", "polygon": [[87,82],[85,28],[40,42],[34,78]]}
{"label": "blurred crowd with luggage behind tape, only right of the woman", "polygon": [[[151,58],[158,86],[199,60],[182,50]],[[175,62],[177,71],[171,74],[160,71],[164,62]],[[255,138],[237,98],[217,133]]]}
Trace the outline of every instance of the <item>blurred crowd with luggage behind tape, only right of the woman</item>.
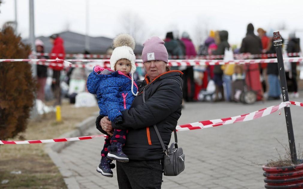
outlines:
{"label": "blurred crowd with luggage behind tape, only right of the woman", "polygon": [[[196,53],[195,47],[186,32],[182,34],[181,39],[178,39],[178,36],[173,37],[172,32],[168,32],[165,47],[172,56],[224,55],[229,60],[234,58],[233,54],[275,54],[273,31],[266,32],[264,29],[258,28],[258,35],[255,35],[254,31],[253,24],[248,24],[246,36],[239,48],[235,46],[231,48],[228,43],[228,31],[210,31],[205,43],[198,48],[198,53]],[[301,51],[300,39],[296,38],[295,33],[289,34],[287,44],[284,44],[283,39],[283,46],[285,53],[299,53]],[[253,57],[253,59],[258,58],[260,57]],[[270,57],[264,56],[261,58]],[[223,59],[223,56],[218,59]],[[285,62],[288,90],[293,92],[291,97],[299,96],[297,65],[297,62]],[[179,69],[184,73],[182,78],[183,96],[186,101],[201,100],[199,96],[201,91],[206,91],[208,84],[212,85],[213,83],[215,89],[213,98],[211,98],[213,101],[239,101],[239,92],[245,90],[253,91],[256,94],[256,100],[274,100],[280,99],[281,96],[277,63],[175,67],[174,69]],[[213,82],[209,82],[211,80]]]}

